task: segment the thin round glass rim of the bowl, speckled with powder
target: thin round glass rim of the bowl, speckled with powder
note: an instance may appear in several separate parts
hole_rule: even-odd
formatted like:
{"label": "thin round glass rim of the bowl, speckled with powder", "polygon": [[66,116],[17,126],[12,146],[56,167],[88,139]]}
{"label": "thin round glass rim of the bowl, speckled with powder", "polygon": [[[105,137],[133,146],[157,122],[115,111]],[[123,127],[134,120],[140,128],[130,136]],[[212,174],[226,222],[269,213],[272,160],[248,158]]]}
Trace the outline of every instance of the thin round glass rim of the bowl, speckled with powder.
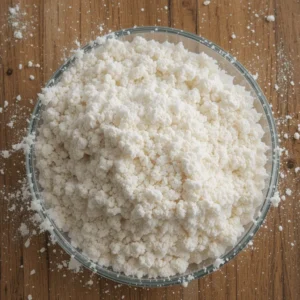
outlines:
{"label": "thin round glass rim of the bowl, speckled with powder", "polygon": [[[209,49],[216,52],[218,55],[225,58],[228,62],[230,62],[236,70],[246,79],[247,83],[250,85],[252,90],[255,92],[257,99],[260,101],[260,104],[263,107],[265,117],[267,119],[268,127],[270,130],[271,135],[271,142],[272,142],[272,168],[270,172],[270,180],[269,180],[269,187],[266,193],[266,197],[264,199],[264,203],[260,210],[260,215],[254,220],[253,224],[249,228],[248,232],[244,234],[244,236],[241,238],[241,240],[234,246],[233,249],[231,249],[229,252],[226,252],[224,255],[222,255],[220,258],[223,259],[224,265],[231,259],[233,259],[239,252],[241,252],[246,245],[253,239],[254,235],[260,228],[261,224],[265,220],[265,217],[267,215],[267,212],[270,208],[270,199],[273,197],[276,189],[277,189],[277,183],[278,183],[278,173],[279,173],[279,153],[278,153],[278,135],[275,125],[275,120],[273,118],[272,110],[270,108],[270,105],[264,96],[262,90],[256,83],[256,81],[253,79],[251,73],[240,63],[238,62],[235,57],[233,57],[231,54],[229,54],[227,51],[222,49],[220,46],[216,45],[215,43],[207,40],[206,38],[203,38],[201,36],[197,36],[196,34],[186,32],[184,30],[180,29],[174,29],[170,27],[160,27],[160,26],[145,26],[145,27],[134,27],[134,28],[128,28],[128,29],[122,29],[110,34],[107,34],[103,36],[104,38],[121,38],[123,36],[127,35],[137,35],[137,34],[143,34],[143,33],[167,33],[172,35],[179,35],[188,39],[191,39],[193,41],[196,41]],[[97,40],[92,43],[88,43],[87,45],[83,46],[81,49],[86,51],[89,51],[91,48],[93,48],[97,45]],[[75,60],[75,56],[71,56],[68,58],[68,60],[61,65],[56,72],[52,75],[50,80],[46,83],[45,87],[53,86],[57,79],[60,78],[62,73],[70,66],[70,64]],[[37,129],[37,123],[38,123],[38,116],[39,112],[41,110],[41,101],[38,99],[33,113],[31,115],[29,127],[28,127],[28,135],[32,135],[36,132]],[[69,254],[71,257],[75,258],[78,262],[80,262],[83,266],[90,269],[92,272],[98,273],[102,277],[111,279],[113,281],[127,284],[127,285],[133,285],[133,286],[140,286],[140,287],[161,287],[161,286],[170,286],[175,284],[182,284],[183,282],[190,281],[189,275],[192,275],[193,279],[201,278],[207,274],[212,273],[216,270],[213,264],[209,265],[206,268],[202,268],[198,271],[192,272],[190,274],[183,274],[183,275],[174,275],[170,278],[157,278],[157,279],[150,279],[150,278],[136,278],[133,276],[126,276],[124,274],[120,274],[117,272],[114,272],[108,268],[101,267],[100,265],[93,263],[88,259],[88,257],[77,250],[75,247],[71,245],[71,243],[66,240],[63,233],[58,229],[56,224],[53,222],[53,220],[49,217],[49,215],[46,212],[45,207],[42,203],[42,197],[40,197],[39,190],[37,188],[38,182],[37,178],[35,176],[35,167],[34,167],[34,145],[30,145],[30,150],[25,154],[26,155],[26,174],[27,174],[27,180],[29,183],[29,189],[32,196],[32,201],[36,201],[35,203],[38,203],[37,205],[37,211],[42,219],[42,221],[47,222],[48,224],[48,231],[51,233],[54,240]]]}

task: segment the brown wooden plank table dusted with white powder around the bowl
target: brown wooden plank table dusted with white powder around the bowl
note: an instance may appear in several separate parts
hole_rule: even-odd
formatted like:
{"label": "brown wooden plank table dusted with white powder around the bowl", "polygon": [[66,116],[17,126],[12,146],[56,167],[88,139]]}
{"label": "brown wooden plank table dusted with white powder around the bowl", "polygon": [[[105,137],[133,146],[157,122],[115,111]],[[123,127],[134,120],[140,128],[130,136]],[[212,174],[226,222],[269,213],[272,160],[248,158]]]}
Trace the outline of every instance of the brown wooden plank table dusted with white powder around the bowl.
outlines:
{"label": "brown wooden plank table dusted with white powder around the bowl", "polygon": [[[8,7],[20,3],[27,30],[22,40],[13,38]],[[76,47],[99,34],[134,25],[160,25],[204,36],[237,57],[253,74],[280,118],[280,133],[294,134],[300,105],[300,3],[299,0],[2,0],[0,3],[0,114],[1,149],[18,142],[34,106],[36,94]],[[275,22],[265,16],[275,15]],[[99,30],[102,26],[103,31]],[[232,34],[236,38],[232,38]],[[27,62],[40,64],[28,68]],[[18,65],[23,64],[19,70]],[[11,69],[11,70],[9,70]],[[8,71],[9,70],[9,71]],[[10,74],[12,71],[12,74]],[[29,76],[34,75],[34,80]],[[275,89],[275,84],[279,89]],[[294,85],[293,85],[294,84]],[[16,96],[22,100],[16,102]],[[30,100],[30,99],[33,99]],[[285,116],[292,116],[286,120]],[[15,116],[15,118],[13,117]],[[14,120],[13,128],[7,124]],[[6,299],[300,299],[300,144],[282,139],[288,155],[282,156],[280,191],[292,195],[272,208],[264,226],[249,246],[219,271],[182,286],[142,289],[117,285],[87,270],[74,274],[62,261],[68,255],[52,245],[47,234],[24,243],[18,228],[30,224],[22,202],[11,193],[20,189],[24,159],[15,153],[0,159],[0,298]],[[14,205],[16,209],[13,210]],[[279,231],[279,226],[283,227]],[[32,230],[31,230],[32,232]],[[40,249],[45,248],[45,252]],[[35,270],[35,274],[30,275]],[[92,285],[87,284],[89,280]],[[91,282],[90,282],[91,283]],[[123,296],[123,298],[122,298]]]}

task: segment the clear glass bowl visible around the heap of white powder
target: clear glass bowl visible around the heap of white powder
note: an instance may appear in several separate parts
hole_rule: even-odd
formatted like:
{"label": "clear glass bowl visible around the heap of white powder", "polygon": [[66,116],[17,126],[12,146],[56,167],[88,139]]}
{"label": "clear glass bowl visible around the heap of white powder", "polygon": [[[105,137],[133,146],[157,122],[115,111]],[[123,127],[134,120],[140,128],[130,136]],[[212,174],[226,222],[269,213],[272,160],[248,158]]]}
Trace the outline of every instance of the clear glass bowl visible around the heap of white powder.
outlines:
{"label": "clear glass bowl visible around the heap of white powder", "polygon": [[[264,142],[269,146],[269,151],[267,153],[268,162],[266,165],[269,177],[266,179],[264,201],[257,209],[254,221],[245,227],[245,232],[240,237],[238,243],[233,248],[228,249],[227,252],[221,257],[226,263],[235,255],[237,255],[249,243],[254,234],[260,228],[269,210],[270,198],[276,191],[279,171],[279,156],[278,152],[276,151],[278,140],[276,126],[270,106],[256,81],[252,78],[251,74],[245,69],[245,67],[243,67],[232,55],[221,49],[216,44],[183,30],[176,30],[168,27],[139,27],[121,30],[114,33],[116,38],[126,41],[132,40],[137,35],[142,36],[147,40],[154,39],[159,42],[182,42],[184,47],[192,52],[204,52],[213,57],[217,60],[222,69],[224,69],[228,74],[234,76],[235,84],[242,85],[251,92],[255,98],[255,107],[258,112],[262,114],[261,125],[265,131]],[[110,35],[108,35],[107,38],[109,38],[109,36]],[[83,47],[83,49],[84,51],[90,51],[93,47],[98,46],[99,45],[96,43],[90,43]],[[74,59],[74,57],[71,57],[65,64],[63,64],[48,81],[46,87],[56,84],[60,80],[62,73],[70,66],[70,64],[72,64]],[[40,117],[42,110],[43,106],[41,105],[40,101],[38,101],[34,108],[29,126],[30,134],[35,133],[38,129],[41,122]],[[26,155],[26,169],[33,200],[38,201],[40,204],[39,214],[41,218],[51,224],[51,234],[67,253],[74,257],[82,265],[94,272],[97,272],[99,275],[129,285],[157,287],[182,283],[187,280],[188,275],[192,275],[194,278],[200,278],[215,270],[213,266],[213,260],[206,260],[199,265],[190,266],[185,274],[175,275],[169,278],[138,279],[131,276],[125,276],[122,273],[114,272],[110,268],[105,268],[91,262],[89,258],[80,251],[80,249],[76,249],[71,245],[67,233],[61,232],[47,214],[43,199],[40,194],[41,188],[38,183],[38,174],[35,168],[34,145],[31,146],[29,153]]]}

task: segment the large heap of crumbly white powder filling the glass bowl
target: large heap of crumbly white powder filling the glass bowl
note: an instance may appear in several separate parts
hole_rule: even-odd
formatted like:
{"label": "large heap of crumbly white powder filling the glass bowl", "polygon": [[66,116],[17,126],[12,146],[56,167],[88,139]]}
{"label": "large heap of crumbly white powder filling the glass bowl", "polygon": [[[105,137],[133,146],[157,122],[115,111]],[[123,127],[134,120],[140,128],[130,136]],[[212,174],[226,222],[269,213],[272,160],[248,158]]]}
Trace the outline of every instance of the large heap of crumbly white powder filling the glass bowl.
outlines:
{"label": "large heap of crumbly white powder filling the glass bowl", "polygon": [[182,44],[110,39],[76,57],[40,95],[49,215],[92,261],[126,275],[220,257],[263,200],[267,146],[250,93]]}

